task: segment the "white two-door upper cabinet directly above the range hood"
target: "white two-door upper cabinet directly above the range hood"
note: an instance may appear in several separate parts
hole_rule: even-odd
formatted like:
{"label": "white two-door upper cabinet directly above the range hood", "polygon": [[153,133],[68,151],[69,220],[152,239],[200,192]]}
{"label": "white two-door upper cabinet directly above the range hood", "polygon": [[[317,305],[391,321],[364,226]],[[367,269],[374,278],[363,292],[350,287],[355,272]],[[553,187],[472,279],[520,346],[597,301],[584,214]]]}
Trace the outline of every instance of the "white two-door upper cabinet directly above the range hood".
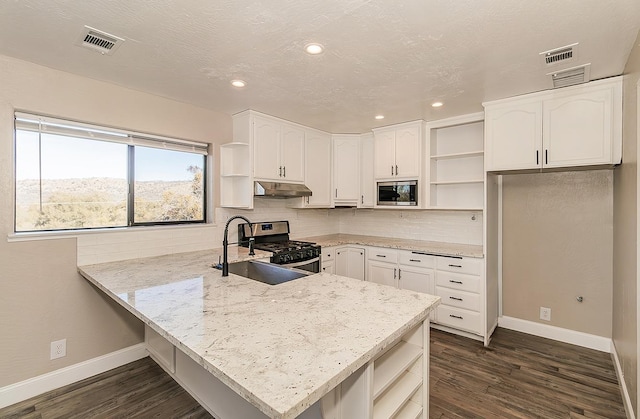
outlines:
{"label": "white two-door upper cabinet directly above the range hood", "polygon": [[286,121],[253,118],[253,176],[255,179],[304,181],[304,130]]}

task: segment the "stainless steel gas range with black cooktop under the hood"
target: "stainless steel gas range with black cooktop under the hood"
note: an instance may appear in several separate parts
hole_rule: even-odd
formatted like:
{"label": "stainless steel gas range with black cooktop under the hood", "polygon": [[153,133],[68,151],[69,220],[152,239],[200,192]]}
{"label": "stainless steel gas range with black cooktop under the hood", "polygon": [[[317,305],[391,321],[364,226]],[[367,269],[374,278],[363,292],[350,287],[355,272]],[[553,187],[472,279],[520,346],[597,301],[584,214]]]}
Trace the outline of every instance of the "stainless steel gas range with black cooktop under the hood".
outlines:
{"label": "stainless steel gas range with black cooktop under the hood", "polygon": [[320,272],[320,246],[315,243],[289,240],[289,221],[244,223],[238,225],[238,244],[272,252],[271,263],[305,271]]}

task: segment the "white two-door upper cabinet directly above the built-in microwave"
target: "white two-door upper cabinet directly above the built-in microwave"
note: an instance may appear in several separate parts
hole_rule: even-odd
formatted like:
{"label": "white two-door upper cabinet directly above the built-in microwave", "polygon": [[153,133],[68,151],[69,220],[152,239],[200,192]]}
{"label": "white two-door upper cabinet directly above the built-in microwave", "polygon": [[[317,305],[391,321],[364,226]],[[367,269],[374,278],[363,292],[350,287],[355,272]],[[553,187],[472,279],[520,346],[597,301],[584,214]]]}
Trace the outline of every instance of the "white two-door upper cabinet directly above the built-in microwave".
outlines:
{"label": "white two-door upper cabinet directly above the built-in microwave", "polygon": [[373,130],[376,179],[420,177],[422,125],[422,121],[416,121]]}

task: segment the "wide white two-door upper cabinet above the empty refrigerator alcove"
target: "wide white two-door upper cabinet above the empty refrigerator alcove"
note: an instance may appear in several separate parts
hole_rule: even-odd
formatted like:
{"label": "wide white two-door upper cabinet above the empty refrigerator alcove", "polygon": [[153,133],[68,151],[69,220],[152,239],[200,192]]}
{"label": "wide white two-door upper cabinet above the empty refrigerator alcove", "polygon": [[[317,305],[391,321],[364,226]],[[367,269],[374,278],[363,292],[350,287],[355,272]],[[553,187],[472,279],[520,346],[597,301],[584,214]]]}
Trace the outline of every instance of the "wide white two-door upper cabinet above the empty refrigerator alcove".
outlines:
{"label": "wide white two-door upper cabinet above the empty refrigerator alcove", "polygon": [[487,171],[620,163],[621,77],[484,106]]}

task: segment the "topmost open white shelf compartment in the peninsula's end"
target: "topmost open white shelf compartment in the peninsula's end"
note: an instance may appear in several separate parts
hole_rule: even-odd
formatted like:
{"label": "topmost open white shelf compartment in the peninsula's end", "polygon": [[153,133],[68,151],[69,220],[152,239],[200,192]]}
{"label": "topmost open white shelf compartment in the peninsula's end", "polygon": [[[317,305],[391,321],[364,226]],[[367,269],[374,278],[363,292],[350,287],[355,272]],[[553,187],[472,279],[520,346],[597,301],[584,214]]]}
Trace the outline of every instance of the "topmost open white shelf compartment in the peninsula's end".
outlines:
{"label": "topmost open white shelf compartment in the peninsula's end", "polygon": [[400,341],[374,363],[373,398],[382,394],[422,356],[422,348]]}

